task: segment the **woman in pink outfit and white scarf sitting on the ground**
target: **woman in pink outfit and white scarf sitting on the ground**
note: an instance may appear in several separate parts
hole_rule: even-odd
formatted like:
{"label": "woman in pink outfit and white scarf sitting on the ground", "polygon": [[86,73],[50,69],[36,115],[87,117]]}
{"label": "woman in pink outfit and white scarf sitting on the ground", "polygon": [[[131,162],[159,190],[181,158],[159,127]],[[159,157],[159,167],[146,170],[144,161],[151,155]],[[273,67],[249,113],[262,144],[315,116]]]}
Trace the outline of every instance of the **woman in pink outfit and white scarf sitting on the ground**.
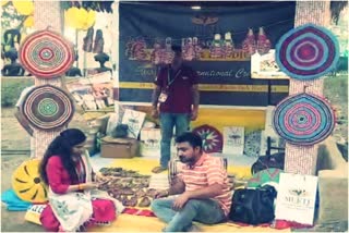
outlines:
{"label": "woman in pink outfit and white scarf sitting on the ground", "polygon": [[[39,167],[48,185],[49,204],[40,221],[48,231],[75,232],[117,218],[117,200],[97,191],[95,173],[85,156],[84,133],[69,128],[48,146]],[[122,206],[121,206],[122,208]],[[122,211],[122,210],[121,210]]]}

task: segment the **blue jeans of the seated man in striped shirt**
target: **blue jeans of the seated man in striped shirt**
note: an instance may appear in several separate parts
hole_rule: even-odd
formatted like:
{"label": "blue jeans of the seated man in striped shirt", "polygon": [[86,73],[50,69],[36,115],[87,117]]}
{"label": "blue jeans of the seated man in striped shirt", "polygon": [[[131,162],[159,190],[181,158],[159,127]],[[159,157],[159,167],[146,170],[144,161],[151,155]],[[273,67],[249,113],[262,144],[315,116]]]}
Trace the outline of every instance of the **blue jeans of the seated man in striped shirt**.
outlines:
{"label": "blue jeans of the seated man in striped shirt", "polygon": [[155,199],[152,210],[161,221],[168,223],[164,232],[184,232],[192,221],[215,224],[226,220],[219,204],[214,199],[190,199],[180,211],[172,209],[173,197]]}

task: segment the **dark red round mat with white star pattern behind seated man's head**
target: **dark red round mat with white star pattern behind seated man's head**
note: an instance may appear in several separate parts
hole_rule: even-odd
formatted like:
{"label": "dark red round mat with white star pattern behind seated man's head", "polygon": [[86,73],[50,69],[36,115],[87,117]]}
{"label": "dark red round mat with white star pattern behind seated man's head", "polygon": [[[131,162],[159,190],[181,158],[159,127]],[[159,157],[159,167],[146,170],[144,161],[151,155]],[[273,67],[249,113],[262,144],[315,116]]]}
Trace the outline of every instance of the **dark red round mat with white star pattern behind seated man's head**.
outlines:
{"label": "dark red round mat with white star pattern behind seated man's head", "polygon": [[203,150],[205,152],[221,152],[222,149],[222,135],[221,133],[208,125],[204,124],[193,130],[203,139]]}

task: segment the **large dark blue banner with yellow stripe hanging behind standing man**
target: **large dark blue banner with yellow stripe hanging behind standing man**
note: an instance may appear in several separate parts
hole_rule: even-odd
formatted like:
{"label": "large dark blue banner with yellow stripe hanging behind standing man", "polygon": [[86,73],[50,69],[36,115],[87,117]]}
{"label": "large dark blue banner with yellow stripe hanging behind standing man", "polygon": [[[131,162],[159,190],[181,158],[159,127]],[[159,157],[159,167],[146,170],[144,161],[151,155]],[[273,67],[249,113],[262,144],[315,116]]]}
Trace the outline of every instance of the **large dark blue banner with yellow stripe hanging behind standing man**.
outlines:
{"label": "large dark blue banner with yellow stripe hanging behind standing man", "polygon": [[201,11],[120,2],[119,100],[151,102],[156,74],[171,61],[171,45],[181,45],[185,62],[201,78],[201,105],[261,107],[278,102],[288,95],[289,81],[251,78],[251,56],[274,49],[293,28],[294,9],[294,2]]}

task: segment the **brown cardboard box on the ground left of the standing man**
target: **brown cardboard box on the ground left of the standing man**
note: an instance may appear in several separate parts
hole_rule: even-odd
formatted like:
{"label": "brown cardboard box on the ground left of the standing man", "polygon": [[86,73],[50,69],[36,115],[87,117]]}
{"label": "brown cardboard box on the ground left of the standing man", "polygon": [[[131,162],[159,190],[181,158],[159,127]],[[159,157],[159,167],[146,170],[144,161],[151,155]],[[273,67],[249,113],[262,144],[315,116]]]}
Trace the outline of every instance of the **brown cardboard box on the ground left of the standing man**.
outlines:
{"label": "brown cardboard box on the ground left of the standing man", "polygon": [[133,158],[140,154],[140,142],[133,138],[101,138],[100,157]]}

